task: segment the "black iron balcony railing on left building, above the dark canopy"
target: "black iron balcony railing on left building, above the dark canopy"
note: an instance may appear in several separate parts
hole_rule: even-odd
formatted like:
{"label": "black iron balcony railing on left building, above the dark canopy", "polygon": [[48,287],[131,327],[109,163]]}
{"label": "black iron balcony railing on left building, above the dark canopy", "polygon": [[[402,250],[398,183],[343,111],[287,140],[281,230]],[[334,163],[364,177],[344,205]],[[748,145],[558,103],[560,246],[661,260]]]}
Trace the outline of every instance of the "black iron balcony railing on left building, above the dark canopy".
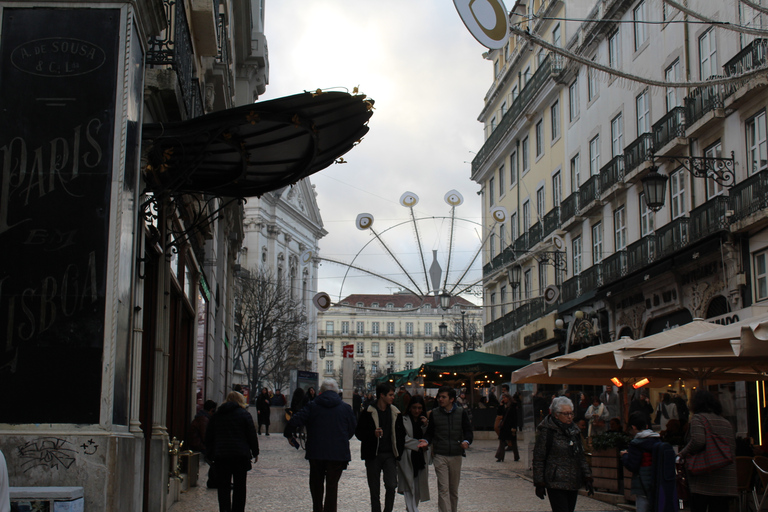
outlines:
{"label": "black iron balcony railing on left building, above the dark canopy", "polygon": [[203,96],[200,92],[200,81],[194,76],[195,57],[184,2],[163,0],[163,7],[168,26],[162,37],[149,39],[146,64],[170,66],[178,77],[187,119],[201,116],[205,113]]}

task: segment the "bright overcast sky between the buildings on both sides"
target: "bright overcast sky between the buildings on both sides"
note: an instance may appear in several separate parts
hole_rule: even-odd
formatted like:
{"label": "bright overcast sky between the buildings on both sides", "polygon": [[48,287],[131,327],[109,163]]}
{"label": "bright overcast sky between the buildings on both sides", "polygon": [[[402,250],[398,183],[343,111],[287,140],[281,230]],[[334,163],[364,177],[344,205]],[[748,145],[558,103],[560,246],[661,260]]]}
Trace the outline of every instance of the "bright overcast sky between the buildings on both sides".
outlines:
{"label": "bright overcast sky between the buildings on both sides", "polygon": [[[491,85],[492,64],[486,50],[464,27],[449,0],[270,0],[265,33],[269,45],[269,85],[260,100],[305,90],[352,89],[376,102],[370,131],[347,153],[349,163],[334,164],[312,176],[325,229],[320,256],[351,263],[372,235],[355,227],[359,213],[374,216],[373,228],[405,269],[427,288],[418,259],[416,236],[406,222],[409,209],[399,204],[403,192],[416,193],[417,217],[450,215],[445,194],[458,190],[464,204],[456,209],[457,241],[449,284],[455,284],[480,248],[479,186],[469,179],[474,152],[482,146],[477,121]],[[449,222],[419,222],[426,266],[431,251],[447,267]],[[413,288],[381,244],[374,242],[355,260]],[[482,260],[462,282],[481,277]],[[365,278],[324,262],[320,291],[333,301],[350,293],[391,293],[392,283]]]}

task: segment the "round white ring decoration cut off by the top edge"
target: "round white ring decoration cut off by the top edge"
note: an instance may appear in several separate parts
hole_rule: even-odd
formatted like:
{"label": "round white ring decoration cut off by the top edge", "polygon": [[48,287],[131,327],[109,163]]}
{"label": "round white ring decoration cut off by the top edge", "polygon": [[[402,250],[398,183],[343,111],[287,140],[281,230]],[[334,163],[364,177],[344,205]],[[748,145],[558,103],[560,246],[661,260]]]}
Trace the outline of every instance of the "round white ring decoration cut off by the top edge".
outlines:
{"label": "round white ring decoration cut off by the top edge", "polygon": [[509,39],[509,17],[503,0],[453,0],[467,30],[477,42],[499,50]]}

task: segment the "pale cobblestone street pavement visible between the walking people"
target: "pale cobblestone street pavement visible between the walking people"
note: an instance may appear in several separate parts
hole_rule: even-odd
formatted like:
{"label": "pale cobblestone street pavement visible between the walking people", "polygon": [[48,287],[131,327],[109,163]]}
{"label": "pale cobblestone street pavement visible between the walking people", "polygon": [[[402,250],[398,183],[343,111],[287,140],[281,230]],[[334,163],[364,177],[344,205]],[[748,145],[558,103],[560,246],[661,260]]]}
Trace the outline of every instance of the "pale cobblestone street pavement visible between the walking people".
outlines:
{"label": "pale cobblestone street pavement visible between the walking people", "polygon": [[[309,463],[303,450],[295,450],[282,435],[259,437],[259,462],[248,472],[247,511],[294,512],[311,511],[309,496]],[[498,441],[475,441],[464,459],[459,488],[459,510],[462,512],[535,512],[549,511],[549,500],[540,500],[525,470],[527,454],[520,462],[507,452],[505,462],[494,457]],[[365,465],[360,460],[360,443],[350,441],[352,461],[339,482],[339,511],[369,511],[370,498],[365,479]],[[522,448],[522,446],[521,446]],[[522,450],[521,450],[522,451]],[[198,486],[182,493],[170,512],[218,512],[216,490],[205,486],[207,466],[202,465]],[[420,512],[437,512],[437,481],[429,467],[432,499],[421,503]],[[382,483],[382,504],[384,485]],[[405,510],[403,497],[395,498],[395,511]],[[585,496],[579,496],[577,511],[620,510]]]}

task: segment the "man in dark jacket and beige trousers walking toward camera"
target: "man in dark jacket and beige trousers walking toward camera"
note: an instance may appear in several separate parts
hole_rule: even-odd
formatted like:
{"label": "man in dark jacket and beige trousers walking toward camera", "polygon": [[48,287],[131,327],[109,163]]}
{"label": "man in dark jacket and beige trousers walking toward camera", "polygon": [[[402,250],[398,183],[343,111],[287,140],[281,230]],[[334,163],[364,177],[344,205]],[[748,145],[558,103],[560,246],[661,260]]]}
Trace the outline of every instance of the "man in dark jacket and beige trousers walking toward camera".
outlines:
{"label": "man in dark jacket and beige trousers walking toward camera", "polygon": [[437,390],[437,407],[429,415],[424,433],[432,445],[437,477],[437,508],[440,512],[457,512],[462,457],[474,439],[472,422],[466,409],[456,404],[456,390],[441,386]]}

